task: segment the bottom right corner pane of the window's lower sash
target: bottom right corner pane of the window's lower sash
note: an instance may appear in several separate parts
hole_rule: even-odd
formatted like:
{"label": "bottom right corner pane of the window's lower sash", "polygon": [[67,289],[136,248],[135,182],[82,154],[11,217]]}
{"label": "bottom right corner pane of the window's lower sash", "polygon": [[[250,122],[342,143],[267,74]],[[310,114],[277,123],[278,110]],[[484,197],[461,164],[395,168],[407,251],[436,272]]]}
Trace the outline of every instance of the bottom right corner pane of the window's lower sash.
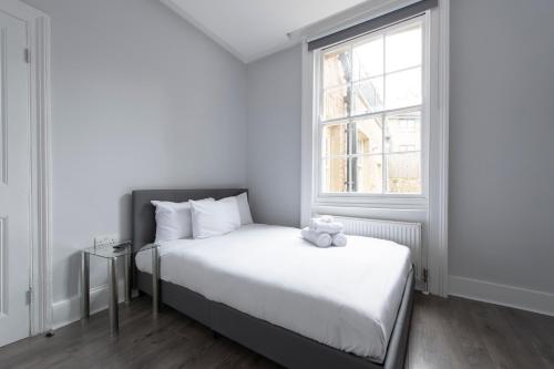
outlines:
{"label": "bottom right corner pane of the window's lower sash", "polygon": [[421,154],[388,154],[387,192],[394,194],[421,193]]}

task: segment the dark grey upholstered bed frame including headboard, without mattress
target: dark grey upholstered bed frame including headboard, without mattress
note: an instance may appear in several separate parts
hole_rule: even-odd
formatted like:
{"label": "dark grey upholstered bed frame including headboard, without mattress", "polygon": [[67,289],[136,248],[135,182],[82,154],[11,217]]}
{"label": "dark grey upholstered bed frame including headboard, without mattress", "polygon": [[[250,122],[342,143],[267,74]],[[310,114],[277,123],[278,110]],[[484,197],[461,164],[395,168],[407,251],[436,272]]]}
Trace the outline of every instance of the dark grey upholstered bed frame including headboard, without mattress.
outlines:
{"label": "dark grey upholstered bed frame including headboard, without mattress", "polygon": [[[141,248],[155,236],[152,199],[184,202],[205,197],[223,198],[246,192],[238,189],[163,189],[133,192],[133,247]],[[152,276],[137,271],[138,290],[152,294]],[[214,331],[288,368],[403,368],[413,308],[414,276],[411,271],[382,363],[319,344],[288,329],[254,318],[185,287],[162,280],[161,301]]]}

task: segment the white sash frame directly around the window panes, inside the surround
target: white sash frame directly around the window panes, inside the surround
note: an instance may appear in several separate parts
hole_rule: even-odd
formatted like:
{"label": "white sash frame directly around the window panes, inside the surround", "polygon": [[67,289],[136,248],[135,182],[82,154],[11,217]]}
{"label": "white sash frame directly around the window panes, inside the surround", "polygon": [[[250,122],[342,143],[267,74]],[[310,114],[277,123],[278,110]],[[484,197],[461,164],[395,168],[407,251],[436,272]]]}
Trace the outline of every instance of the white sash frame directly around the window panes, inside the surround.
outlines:
{"label": "white sash frame directly around the window panes, inside the surround", "polygon": [[[324,124],[328,124],[328,122],[322,123],[321,115],[321,105],[324,99],[324,88],[322,88],[322,54],[327,52],[331,52],[337,49],[343,48],[345,43],[338,43],[327,49],[315,50],[314,51],[314,116],[312,124],[315,125],[316,134],[314,135],[312,146],[315,150],[315,154],[312,157],[312,167],[314,167],[314,181],[312,181],[312,202],[318,205],[343,205],[343,206],[367,206],[367,205],[394,205],[394,206],[409,206],[409,207],[423,207],[428,204],[429,198],[429,91],[430,91],[430,58],[429,58],[429,12],[425,12],[422,16],[414,17],[414,19],[421,19],[422,21],[422,61],[421,61],[421,70],[422,70],[422,103],[421,103],[421,194],[368,194],[368,193],[329,193],[324,192],[321,186],[321,142],[322,142],[322,126]],[[394,31],[398,28],[406,27],[406,22],[410,22],[414,20],[406,20],[399,22],[397,24],[392,24],[389,27],[384,27],[382,29],[376,30],[375,32],[368,33],[366,35],[361,35],[355,40],[353,42],[362,43],[365,39],[370,39],[375,37],[376,32],[381,32],[383,30]],[[350,42],[350,41],[347,41]],[[419,105],[416,105],[419,106]],[[398,111],[409,110],[410,106],[402,107]],[[383,110],[382,112],[378,112],[376,114],[387,114],[394,110]],[[345,121],[351,117],[337,119],[337,121]],[[384,175],[384,173],[383,173]],[[384,181],[384,177],[383,177]]]}

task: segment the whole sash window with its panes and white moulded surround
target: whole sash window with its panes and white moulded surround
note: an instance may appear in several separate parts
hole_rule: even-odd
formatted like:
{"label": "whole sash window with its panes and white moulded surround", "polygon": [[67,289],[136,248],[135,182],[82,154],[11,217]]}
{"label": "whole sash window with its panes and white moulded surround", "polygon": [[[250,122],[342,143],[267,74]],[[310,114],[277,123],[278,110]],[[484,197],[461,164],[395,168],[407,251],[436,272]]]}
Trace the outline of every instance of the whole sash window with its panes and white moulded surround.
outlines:
{"label": "whole sash window with its panes and white moulded surround", "polygon": [[420,223],[429,288],[444,295],[450,2],[379,4],[298,33],[300,225],[319,214]]}

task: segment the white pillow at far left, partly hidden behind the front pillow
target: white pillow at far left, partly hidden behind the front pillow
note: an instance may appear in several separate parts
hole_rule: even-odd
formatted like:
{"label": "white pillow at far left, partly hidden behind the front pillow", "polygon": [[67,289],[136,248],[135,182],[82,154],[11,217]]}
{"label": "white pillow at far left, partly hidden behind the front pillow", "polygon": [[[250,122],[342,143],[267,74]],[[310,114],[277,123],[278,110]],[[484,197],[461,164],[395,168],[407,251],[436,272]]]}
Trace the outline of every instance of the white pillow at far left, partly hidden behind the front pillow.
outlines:
{"label": "white pillow at far left, partly hidden behind the front pillow", "polygon": [[[205,198],[211,201],[213,198]],[[172,202],[151,202],[156,207],[156,243],[193,236],[191,204]]]}

